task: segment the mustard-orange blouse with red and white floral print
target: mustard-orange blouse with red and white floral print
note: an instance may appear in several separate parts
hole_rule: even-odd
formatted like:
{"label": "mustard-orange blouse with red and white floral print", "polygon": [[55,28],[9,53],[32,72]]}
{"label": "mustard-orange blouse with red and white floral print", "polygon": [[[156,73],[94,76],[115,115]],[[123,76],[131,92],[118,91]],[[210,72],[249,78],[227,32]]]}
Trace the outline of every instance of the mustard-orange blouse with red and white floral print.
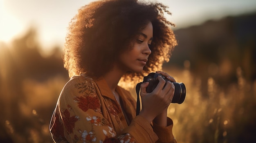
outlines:
{"label": "mustard-orange blouse with red and white floral print", "polygon": [[103,78],[74,76],[64,86],[50,123],[56,143],[176,143],[173,122],[161,127],[136,116],[130,92],[117,86],[121,106]]}

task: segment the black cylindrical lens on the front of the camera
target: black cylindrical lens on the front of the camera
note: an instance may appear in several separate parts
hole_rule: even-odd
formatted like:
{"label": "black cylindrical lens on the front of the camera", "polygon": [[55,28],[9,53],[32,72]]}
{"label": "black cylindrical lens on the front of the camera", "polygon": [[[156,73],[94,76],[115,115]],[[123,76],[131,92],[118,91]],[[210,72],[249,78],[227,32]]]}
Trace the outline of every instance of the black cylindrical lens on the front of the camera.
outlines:
{"label": "black cylindrical lens on the front of the camera", "polygon": [[173,82],[173,84],[175,86],[175,90],[174,90],[173,100],[171,101],[171,103],[181,104],[183,103],[186,97],[185,84],[177,83],[177,82]]}

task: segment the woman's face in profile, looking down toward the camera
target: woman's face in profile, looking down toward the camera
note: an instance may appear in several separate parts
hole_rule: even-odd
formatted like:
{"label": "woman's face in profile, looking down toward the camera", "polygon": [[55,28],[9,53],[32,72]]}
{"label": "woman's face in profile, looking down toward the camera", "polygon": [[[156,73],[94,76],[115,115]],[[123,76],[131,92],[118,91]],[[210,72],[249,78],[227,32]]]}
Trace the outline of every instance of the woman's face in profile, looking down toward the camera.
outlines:
{"label": "woman's face in profile, looking down toward the camera", "polygon": [[119,56],[118,67],[124,72],[131,71],[140,73],[148,61],[148,56],[151,53],[149,48],[153,40],[153,25],[148,22],[148,25],[142,31],[139,31],[133,47],[121,53]]}

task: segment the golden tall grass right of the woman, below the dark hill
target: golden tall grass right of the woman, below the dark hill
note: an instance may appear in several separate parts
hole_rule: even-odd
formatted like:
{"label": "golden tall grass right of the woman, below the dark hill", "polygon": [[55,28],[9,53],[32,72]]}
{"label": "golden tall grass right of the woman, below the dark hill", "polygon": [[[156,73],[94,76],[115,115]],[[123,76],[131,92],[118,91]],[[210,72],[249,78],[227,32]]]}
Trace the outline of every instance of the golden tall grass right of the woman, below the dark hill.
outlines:
{"label": "golden tall grass right of the woman, below the dark hill", "polygon": [[[256,81],[249,83],[237,68],[237,83],[220,87],[213,77],[202,86],[189,70],[168,70],[186,85],[184,103],[171,104],[168,115],[179,143],[245,143],[256,141]],[[207,87],[203,95],[201,87]]]}

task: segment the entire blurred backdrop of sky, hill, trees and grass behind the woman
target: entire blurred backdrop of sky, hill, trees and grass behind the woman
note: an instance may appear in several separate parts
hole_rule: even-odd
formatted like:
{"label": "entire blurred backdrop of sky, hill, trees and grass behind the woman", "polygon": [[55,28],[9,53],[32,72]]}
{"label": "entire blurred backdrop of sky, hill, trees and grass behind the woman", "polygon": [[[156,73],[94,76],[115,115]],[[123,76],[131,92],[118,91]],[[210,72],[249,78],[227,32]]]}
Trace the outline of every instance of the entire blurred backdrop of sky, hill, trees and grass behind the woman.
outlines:
{"label": "entire blurred backdrop of sky, hill, trees and grass behind the woman", "polygon": [[[53,142],[49,121],[69,80],[66,28],[91,1],[0,0],[1,143]],[[256,142],[256,1],[159,2],[178,40],[163,70],[187,90],[168,110],[177,141]]]}

